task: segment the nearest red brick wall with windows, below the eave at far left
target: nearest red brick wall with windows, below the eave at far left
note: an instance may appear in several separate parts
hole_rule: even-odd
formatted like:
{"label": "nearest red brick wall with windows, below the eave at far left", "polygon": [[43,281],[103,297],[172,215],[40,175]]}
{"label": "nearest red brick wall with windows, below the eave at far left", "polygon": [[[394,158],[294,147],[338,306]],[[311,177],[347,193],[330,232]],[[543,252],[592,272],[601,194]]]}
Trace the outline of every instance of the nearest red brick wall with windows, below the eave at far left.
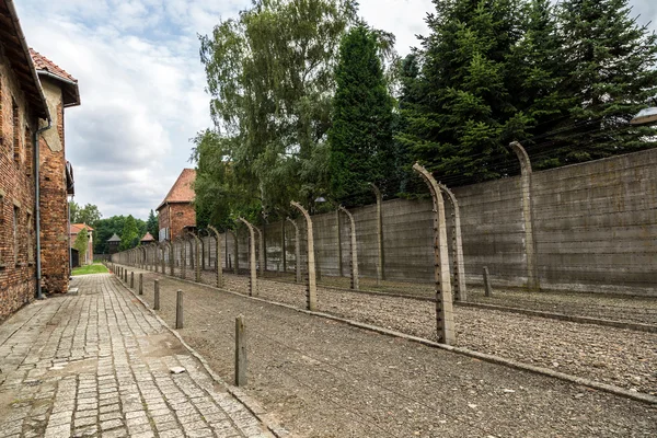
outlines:
{"label": "nearest red brick wall with windows, below the eave at far left", "polygon": [[[19,110],[14,129],[13,102]],[[25,103],[16,77],[0,56],[0,320],[32,301],[36,292],[34,232],[34,180],[27,159],[32,141],[25,130],[35,131],[37,119]],[[14,139],[19,160],[14,159]],[[14,208],[18,208],[18,239],[14,239]],[[15,243],[18,242],[18,246]]]}

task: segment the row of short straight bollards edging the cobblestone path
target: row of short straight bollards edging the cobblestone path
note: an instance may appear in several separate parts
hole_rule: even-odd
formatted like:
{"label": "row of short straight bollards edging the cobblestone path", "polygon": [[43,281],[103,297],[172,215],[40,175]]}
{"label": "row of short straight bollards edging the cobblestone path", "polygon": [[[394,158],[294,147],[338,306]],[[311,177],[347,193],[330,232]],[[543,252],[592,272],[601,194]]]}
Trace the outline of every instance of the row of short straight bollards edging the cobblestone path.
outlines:
{"label": "row of short straight bollards edging the cobblestone path", "polygon": [[[124,266],[115,266],[112,264],[112,272],[122,279],[126,286],[128,283],[128,269]],[[139,273],[139,284],[137,291],[143,295],[143,273]],[[135,289],[135,272],[130,272],[130,289]],[[160,310],[160,280],[155,279],[153,285],[153,310]],[[183,290],[176,291],[175,299],[175,328],[184,328],[184,312],[183,312]],[[234,383],[237,387],[246,384],[246,342],[244,330],[244,316],[235,318],[235,371]]]}

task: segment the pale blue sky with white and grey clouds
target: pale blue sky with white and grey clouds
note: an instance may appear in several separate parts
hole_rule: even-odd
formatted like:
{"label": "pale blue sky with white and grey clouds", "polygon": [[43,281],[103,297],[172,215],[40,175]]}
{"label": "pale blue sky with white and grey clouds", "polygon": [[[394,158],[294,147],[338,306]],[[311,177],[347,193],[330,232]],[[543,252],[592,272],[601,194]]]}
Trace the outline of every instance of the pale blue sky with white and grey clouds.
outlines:
{"label": "pale blue sky with white and grey clouds", "polygon": [[[103,217],[146,219],[188,162],[189,138],[210,126],[197,34],[250,0],[14,0],[27,43],[79,80],[67,110],[76,201]],[[631,0],[639,22],[657,1]],[[397,51],[426,34],[430,0],[360,0],[360,14],[392,32]],[[653,28],[657,26],[652,25]]]}

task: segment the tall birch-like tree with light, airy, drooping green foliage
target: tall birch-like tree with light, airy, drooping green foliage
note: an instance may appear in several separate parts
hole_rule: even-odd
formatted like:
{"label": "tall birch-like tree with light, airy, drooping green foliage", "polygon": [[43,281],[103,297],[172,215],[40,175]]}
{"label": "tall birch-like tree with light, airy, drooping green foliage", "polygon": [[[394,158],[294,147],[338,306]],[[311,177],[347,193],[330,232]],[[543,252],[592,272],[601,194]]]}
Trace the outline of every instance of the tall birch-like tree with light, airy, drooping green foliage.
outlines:
{"label": "tall birch-like tree with light, airy, drooping green foliage", "polygon": [[200,38],[221,162],[247,206],[287,209],[327,191],[313,160],[325,158],[337,47],[355,20],[353,0],[255,0]]}

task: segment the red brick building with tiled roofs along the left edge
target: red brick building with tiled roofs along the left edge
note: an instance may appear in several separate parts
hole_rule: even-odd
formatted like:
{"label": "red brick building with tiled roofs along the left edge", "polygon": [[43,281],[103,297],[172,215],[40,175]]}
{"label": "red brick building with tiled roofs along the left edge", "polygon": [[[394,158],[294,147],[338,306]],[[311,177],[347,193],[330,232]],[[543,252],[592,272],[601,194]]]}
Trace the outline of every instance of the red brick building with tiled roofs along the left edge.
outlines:
{"label": "red brick building with tiled roofs along the left edge", "polygon": [[[68,288],[66,193],[72,187],[72,172],[67,172],[62,140],[61,150],[57,151],[61,165],[57,169],[48,171],[48,154],[39,155],[43,146],[48,147],[46,132],[64,139],[64,106],[79,103],[79,99],[71,100],[67,94],[71,91],[77,96],[77,85],[69,84],[65,91],[60,84],[61,107],[55,103],[56,78],[51,78],[54,83],[49,87],[45,84],[48,81],[45,76],[49,73],[37,72],[13,2],[0,0],[0,320],[3,320],[37,296],[42,281],[39,263],[43,256],[50,256],[43,246],[37,253],[39,239],[48,240],[46,233],[36,232],[41,222],[37,197],[64,216],[59,237],[64,237],[65,250],[57,256],[61,256],[66,268],[53,273],[62,278],[61,291]],[[42,164],[46,175],[41,172]],[[42,188],[48,191],[47,183],[55,180],[61,183],[64,196],[51,200],[50,195],[37,194]],[[44,209],[48,211],[47,206]],[[59,227],[55,221],[46,222],[46,231]]]}

